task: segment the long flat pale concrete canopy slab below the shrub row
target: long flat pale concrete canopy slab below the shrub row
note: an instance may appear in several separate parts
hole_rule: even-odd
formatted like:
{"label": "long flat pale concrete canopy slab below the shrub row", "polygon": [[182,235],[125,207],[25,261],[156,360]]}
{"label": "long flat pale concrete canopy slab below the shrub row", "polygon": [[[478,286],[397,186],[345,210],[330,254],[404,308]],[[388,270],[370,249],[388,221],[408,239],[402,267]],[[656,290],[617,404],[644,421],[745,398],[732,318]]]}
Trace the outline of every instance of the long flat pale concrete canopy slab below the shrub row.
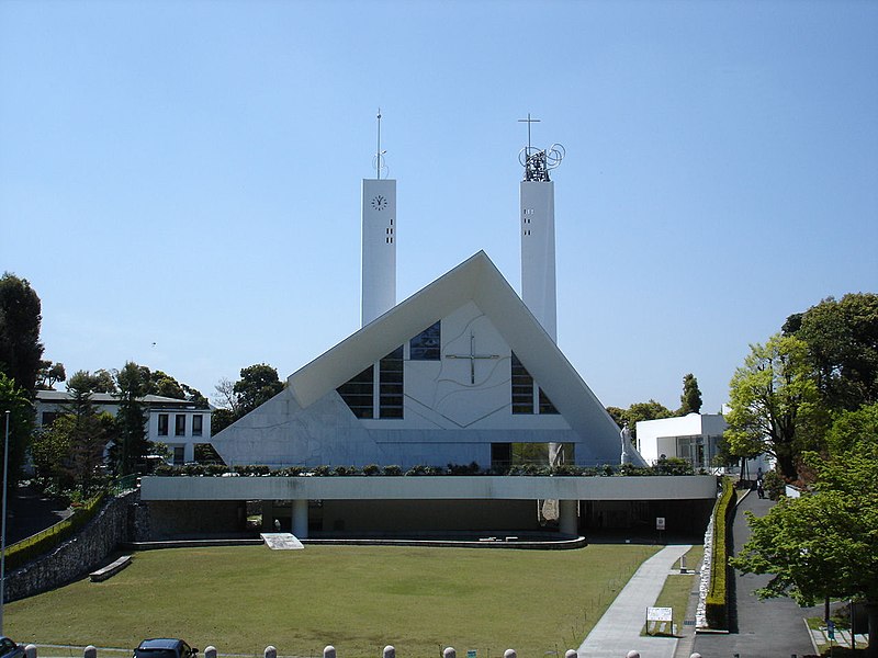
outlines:
{"label": "long flat pale concrete canopy slab below the shrub row", "polygon": [[711,475],[626,477],[337,476],[144,477],[140,499],[159,500],[703,500]]}

